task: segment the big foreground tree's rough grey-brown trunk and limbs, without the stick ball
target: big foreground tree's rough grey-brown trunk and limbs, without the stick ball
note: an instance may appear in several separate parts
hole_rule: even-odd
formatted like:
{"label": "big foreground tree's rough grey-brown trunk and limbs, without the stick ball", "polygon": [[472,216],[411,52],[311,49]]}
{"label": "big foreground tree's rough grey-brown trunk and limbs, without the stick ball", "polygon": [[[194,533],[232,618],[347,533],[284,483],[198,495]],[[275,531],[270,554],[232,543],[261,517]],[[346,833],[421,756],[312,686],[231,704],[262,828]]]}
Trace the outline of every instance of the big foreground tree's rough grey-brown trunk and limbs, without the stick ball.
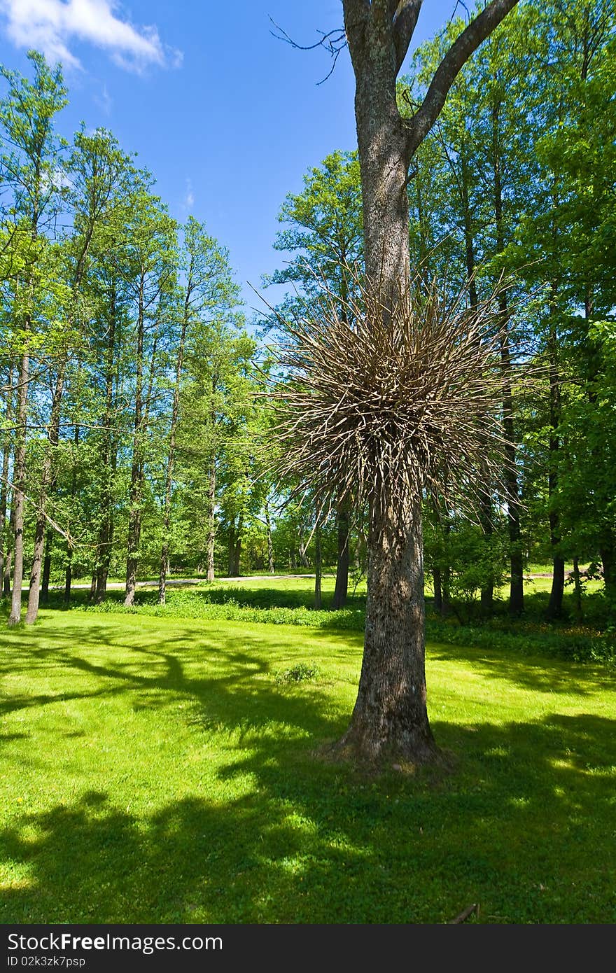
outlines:
{"label": "big foreground tree's rough grey-brown trunk and limbs, without the stick ball", "polygon": [[[393,313],[411,272],[409,166],[436,122],[465,61],[515,6],[491,0],[455,39],[410,119],[396,100],[396,78],[409,50],[421,0],[343,0],[344,31],[355,74],[355,121],[361,173],[367,286],[379,289],[382,314]],[[425,762],[437,752],[430,730],[424,671],[420,497],[400,504],[375,486],[368,540],[368,601],[357,702],[343,745],[379,760]]]}

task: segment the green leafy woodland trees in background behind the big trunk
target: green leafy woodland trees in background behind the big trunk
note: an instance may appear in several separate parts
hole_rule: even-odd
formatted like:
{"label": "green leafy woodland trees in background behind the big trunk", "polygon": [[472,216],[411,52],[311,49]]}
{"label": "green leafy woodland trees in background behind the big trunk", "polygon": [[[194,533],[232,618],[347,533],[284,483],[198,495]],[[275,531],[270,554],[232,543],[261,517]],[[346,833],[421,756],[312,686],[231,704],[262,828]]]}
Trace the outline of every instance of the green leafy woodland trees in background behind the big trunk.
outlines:
{"label": "green leafy woodland trees in background behind the big trunk", "polygon": [[[558,8],[558,10],[557,10]],[[546,614],[567,586],[616,596],[614,10],[609,0],[519,6],[460,72],[408,182],[414,266],[499,298],[506,497],[481,485],[470,519],[424,497],[425,564],[440,612],[477,616],[508,586],[524,612],[530,563],[549,565]],[[460,32],[454,20],[398,80],[411,114]],[[355,152],[310,168],[282,200],[262,317],[239,304],[233,257],[111,131],[56,132],[61,69],[3,70],[0,571],[33,622],[50,586],[107,579],[335,570],[333,607],[365,573],[362,516],[320,518],[275,477],[271,349],[323,282],[341,302],[362,261]],[[268,309],[269,284],[285,284]],[[280,288],[277,289],[277,293]],[[531,394],[516,370],[531,358]],[[270,364],[268,364],[270,362]],[[274,431],[272,431],[274,430]],[[268,449],[270,444],[270,451]],[[477,485],[468,483],[475,492]],[[290,499],[289,499],[290,498]],[[355,580],[353,580],[355,579]]]}

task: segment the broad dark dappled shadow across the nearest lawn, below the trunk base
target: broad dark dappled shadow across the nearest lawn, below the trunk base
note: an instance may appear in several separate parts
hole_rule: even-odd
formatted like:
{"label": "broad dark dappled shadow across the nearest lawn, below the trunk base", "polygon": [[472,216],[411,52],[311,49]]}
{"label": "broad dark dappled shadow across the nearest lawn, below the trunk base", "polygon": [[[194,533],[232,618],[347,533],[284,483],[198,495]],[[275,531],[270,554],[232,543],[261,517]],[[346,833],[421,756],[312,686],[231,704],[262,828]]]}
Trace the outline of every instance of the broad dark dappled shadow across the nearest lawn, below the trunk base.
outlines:
{"label": "broad dark dappled shadow across the nearest lawn, below the trunk base", "polygon": [[308,774],[292,747],[272,759],[267,745],[227,770],[257,781],[227,803],[186,796],[137,820],[86,793],[0,834],[30,876],[4,891],[2,917],[440,922],[479,901],[488,921],[612,922],[615,729],[590,716],[477,726],[463,771],[432,786]]}

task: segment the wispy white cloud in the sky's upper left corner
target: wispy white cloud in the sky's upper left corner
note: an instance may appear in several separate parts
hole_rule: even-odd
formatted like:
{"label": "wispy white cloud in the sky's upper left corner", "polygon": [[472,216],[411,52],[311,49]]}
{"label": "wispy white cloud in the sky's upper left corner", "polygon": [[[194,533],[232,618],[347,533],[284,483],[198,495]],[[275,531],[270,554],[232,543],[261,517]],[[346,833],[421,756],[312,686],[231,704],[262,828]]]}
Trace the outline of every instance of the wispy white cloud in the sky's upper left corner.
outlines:
{"label": "wispy white cloud in the sky's upper left corner", "polygon": [[155,26],[135,27],[114,13],[116,0],[0,0],[6,32],[18,47],[36,48],[64,66],[81,67],[69,45],[87,41],[127,70],[178,66],[180,52],[163,45]]}

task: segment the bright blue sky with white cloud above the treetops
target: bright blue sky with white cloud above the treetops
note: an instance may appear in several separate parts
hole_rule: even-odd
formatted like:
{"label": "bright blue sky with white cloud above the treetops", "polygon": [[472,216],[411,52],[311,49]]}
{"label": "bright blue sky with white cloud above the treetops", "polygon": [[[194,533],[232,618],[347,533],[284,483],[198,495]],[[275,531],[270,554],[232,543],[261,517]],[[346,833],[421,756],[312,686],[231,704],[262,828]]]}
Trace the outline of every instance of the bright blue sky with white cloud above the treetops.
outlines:
{"label": "bright blue sky with white cloud above the treetops", "polygon": [[[426,0],[416,40],[432,36],[455,0]],[[276,41],[342,26],[340,0],[0,0],[0,60],[27,71],[36,47],[64,65],[70,136],[105,126],[157,180],[170,213],[189,213],[228,247],[249,305],[280,266],[276,214],[309,166],[355,147],[348,53],[330,69],[322,50]],[[271,295],[268,295],[271,297]]]}

